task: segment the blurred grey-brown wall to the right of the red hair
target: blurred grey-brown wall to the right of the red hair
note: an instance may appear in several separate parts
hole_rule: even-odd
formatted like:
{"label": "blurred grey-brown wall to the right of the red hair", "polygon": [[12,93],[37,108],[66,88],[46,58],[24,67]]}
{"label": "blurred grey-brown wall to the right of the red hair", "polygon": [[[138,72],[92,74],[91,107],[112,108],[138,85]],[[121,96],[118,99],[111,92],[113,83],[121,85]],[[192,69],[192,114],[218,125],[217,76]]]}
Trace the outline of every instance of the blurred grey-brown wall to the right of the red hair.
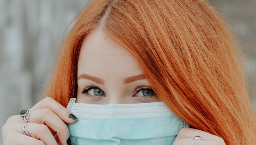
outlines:
{"label": "blurred grey-brown wall to the right of the red hair", "polygon": [[244,52],[248,89],[256,107],[256,0],[210,0],[224,14]]}

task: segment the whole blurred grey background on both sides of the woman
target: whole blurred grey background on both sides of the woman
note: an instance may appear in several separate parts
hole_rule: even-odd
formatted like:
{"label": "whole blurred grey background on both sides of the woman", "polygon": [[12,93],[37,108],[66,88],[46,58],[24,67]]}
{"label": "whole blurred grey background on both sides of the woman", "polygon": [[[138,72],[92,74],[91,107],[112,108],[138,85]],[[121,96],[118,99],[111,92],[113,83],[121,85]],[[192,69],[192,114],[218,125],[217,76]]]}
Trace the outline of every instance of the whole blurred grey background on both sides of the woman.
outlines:
{"label": "whole blurred grey background on both sides of the woman", "polygon": [[[0,126],[39,101],[74,16],[88,0],[0,0]],[[256,107],[256,0],[210,0],[244,52]],[[21,127],[22,128],[22,127]],[[2,130],[0,134],[2,144]]]}

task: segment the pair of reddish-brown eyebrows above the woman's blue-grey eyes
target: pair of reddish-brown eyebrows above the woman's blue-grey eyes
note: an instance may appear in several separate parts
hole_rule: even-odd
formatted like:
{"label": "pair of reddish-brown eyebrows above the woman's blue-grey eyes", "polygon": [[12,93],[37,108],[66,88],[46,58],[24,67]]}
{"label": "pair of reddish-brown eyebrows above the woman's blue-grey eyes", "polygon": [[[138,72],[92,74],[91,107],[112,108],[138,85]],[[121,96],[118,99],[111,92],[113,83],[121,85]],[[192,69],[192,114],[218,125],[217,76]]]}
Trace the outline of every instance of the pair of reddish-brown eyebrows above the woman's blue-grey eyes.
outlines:
{"label": "pair of reddish-brown eyebrows above the woman's blue-grey eyes", "polygon": [[[81,74],[80,76],[78,76],[77,81],[78,81],[79,79],[89,79],[89,80],[91,80],[91,81],[93,81],[93,82],[97,82],[97,83],[102,84],[102,85],[105,84],[105,81],[104,81],[103,79],[97,78],[97,77],[95,77],[95,76],[91,76],[91,75],[88,75],[88,74],[84,74],[84,73]],[[131,82],[140,80],[140,79],[145,79],[145,76],[144,76],[143,74],[141,74],[141,75],[136,75],[136,76],[129,76],[129,77],[127,77],[127,78],[125,78],[125,79],[123,80],[123,83],[124,83],[124,84],[128,84],[128,83],[131,83]]]}

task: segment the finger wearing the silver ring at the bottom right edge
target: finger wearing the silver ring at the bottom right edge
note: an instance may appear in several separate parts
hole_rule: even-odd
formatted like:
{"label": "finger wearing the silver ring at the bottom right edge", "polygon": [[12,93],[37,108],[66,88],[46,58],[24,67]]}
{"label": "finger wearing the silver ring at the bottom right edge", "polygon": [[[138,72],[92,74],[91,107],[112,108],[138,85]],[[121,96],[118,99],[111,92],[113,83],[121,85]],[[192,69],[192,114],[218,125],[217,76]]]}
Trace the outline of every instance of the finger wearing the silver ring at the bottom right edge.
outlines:
{"label": "finger wearing the silver ring at the bottom right edge", "polygon": [[[175,140],[172,145],[190,145],[192,143],[193,139],[192,138],[179,138],[177,140]],[[195,140],[195,142],[193,143],[193,145],[219,145],[216,142],[212,141],[212,140]]]}

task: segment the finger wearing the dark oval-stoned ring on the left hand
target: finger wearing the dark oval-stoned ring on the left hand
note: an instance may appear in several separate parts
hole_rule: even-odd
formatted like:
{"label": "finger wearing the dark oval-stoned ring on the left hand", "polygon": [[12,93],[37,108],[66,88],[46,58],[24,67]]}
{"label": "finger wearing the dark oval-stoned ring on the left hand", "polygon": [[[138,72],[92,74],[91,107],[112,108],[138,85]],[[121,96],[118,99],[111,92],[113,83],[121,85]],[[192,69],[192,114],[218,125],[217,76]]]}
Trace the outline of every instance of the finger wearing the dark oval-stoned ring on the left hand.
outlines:
{"label": "finger wearing the dark oval-stoned ring on the left hand", "polygon": [[[9,123],[16,123],[17,119],[20,118],[19,115],[15,115],[16,119],[12,119]],[[24,120],[19,119],[20,123],[23,123]],[[56,132],[60,142],[62,144],[67,143],[69,137],[69,130],[67,125],[49,108],[37,109],[31,111],[29,115],[29,122],[37,124],[46,124],[52,130]]]}

